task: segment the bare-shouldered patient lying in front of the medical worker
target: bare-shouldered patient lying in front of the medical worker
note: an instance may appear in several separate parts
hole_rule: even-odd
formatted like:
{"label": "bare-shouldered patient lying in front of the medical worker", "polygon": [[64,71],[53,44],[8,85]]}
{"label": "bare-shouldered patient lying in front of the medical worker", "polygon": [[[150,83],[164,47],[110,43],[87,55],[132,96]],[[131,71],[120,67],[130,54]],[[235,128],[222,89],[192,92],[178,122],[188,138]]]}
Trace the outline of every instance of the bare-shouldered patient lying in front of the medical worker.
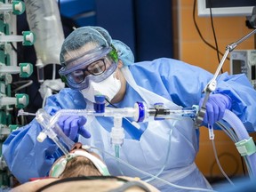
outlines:
{"label": "bare-shouldered patient lying in front of the medical worker", "polygon": [[148,183],[130,177],[110,176],[98,154],[75,145],[68,156],[61,156],[52,165],[49,177],[24,183],[12,192],[33,191],[158,191]]}

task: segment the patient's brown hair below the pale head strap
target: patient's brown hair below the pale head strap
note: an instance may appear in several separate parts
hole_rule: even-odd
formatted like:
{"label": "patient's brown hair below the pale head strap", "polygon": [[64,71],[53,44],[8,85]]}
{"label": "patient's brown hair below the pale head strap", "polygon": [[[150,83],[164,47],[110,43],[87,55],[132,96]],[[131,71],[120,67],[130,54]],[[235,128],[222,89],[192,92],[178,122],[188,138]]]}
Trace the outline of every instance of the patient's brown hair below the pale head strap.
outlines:
{"label": "patient's brown hair below the pale head strap", "polygon": [[68,161],[60,179],[80,176],[101,176],[101,173],[90,159],[84,156],[76,156]]}

